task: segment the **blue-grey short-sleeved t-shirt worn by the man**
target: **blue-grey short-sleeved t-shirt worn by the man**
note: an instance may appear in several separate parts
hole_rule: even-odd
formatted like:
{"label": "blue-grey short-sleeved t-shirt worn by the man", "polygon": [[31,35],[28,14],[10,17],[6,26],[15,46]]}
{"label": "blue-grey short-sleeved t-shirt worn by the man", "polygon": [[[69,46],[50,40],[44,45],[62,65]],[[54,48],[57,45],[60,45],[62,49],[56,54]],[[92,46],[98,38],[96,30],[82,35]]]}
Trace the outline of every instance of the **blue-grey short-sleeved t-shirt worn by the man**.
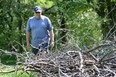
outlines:
{"label": "blue-grey short-sleeved t-shirt worn by the man", "polygon": [[46,16],[37,19],[35,16],[28,19],[26,32],[31,32],[32,46],[38,48],[42,42],[49,42],[49,32],[53,29],[51,21]]}

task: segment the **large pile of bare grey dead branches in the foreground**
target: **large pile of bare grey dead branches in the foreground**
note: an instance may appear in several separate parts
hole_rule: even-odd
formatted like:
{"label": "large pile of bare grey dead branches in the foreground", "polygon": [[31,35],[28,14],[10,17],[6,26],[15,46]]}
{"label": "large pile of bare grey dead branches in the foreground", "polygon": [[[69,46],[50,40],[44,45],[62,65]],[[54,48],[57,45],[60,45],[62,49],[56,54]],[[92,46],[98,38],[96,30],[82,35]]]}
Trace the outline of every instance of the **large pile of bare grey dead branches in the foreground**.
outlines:
{"label": "large pile of bare grey dead branches in the foreground", "polygon": [[115,43],[108,43],[90,50],[28,57],[17,70],[37,72],[38,77],[116,77],[115,51]]}

